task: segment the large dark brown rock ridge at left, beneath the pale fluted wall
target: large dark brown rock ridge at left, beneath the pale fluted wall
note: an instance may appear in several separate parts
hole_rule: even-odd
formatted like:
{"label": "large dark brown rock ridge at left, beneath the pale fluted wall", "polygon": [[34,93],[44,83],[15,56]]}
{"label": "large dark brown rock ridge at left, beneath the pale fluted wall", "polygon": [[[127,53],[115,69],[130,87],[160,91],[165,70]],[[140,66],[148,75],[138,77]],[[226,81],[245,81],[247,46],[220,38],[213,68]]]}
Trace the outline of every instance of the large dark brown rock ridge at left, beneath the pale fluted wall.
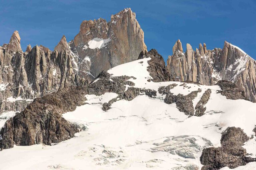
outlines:
{"label": "large dark brown rock ridge at left, beneath the pale fluted wall", "polygon": [[74,111],[85,100],[81,89],[60,90],[35,99],[24,111],[5,123],[0,133],[1,149],[11,148],[14,144],[50,145],[74,137],[79,129],[66,121],[61,113]]}

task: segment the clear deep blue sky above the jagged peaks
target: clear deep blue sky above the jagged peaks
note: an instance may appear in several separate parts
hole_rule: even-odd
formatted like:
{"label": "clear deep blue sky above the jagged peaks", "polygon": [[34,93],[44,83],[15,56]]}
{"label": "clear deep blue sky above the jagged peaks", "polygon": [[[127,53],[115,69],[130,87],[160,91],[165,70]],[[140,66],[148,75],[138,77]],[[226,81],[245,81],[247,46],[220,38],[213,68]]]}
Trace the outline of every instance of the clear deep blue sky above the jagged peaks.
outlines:
{"label": "clear deep blue sky above the jagged peaks", "polygon": [[186,43],[198,48],[200,42],[222,48],[226,40],[256,59],[255,0],[0,0],[0,6],[0,44],[18,30],[23,51],[28,44],[52,50],[62,35],[72,40],[83,20],[109,21],[128,7],[136,13],[148,50],[157,49],[165,59],[178,39],[183,49]]}

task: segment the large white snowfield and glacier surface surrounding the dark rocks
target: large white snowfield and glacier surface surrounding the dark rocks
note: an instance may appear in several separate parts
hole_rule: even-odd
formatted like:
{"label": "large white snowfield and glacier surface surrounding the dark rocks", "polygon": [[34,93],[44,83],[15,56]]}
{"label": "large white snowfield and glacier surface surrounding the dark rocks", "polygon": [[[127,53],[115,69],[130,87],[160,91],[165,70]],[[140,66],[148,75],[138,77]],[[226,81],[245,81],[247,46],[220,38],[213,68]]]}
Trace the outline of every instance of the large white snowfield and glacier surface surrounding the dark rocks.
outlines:
{"label": "large white snowfield and glacier surface surrounding the dark rocks", "polygon": [[[102,110],[103,103],[116,98],[117,94],[86,95],[85,105],[63,114],[66,120],[87,127],[86,131],[53,146],[39,144],[4,149],[0,152],[1,168],[171,170],[192,164],[201,168],[199,158],[203,148],[209,147],[210,143],[214,147],[220,146],[221,132],[227,127],[240,127],[248,136],[253,134],[255,103],[226,99],[217,93],[219,86],[148,82],[152,78],[147,71],[148,60],[150,58],[125,63],[108,72],[112,76],[135,77],[129,81],[139,88],[158,90],[160,86],[177,84],[170,90],[175,95],[187,95],[200,88],[202,92],[193,100],[194,107],[205,90],[211,89],[205,114],[189,118],[177,109],[175,103],[164,103],[165,95],[158,92],[156,98],[139,95],[131,101],[119,100],[106,112]],[[141,61],[143,63],[139,63]],[[192,139],[195,144],[190,142]],[[243,147],[255,155],[255,137]],[[235,169],[255,168],[253,162]]]}

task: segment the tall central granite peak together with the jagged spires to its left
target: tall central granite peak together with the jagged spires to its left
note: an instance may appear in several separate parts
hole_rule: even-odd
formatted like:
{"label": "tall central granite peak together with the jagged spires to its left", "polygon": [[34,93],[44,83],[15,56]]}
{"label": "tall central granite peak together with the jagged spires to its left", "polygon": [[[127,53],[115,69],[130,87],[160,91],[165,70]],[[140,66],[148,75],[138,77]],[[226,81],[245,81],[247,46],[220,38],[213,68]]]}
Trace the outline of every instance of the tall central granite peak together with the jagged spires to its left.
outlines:
{"label": "tall central granite peak together with the jagged spires to its left", "polygon": [[15,31],[0,46],[0,114],[20,112],[34,98],[64,87],[86,86],[104,69],[136,60],[147,47],[135,17],[127,8],[110,22],[83,21],[74,41],[63,36],[54,51],[29,44],[23,52]]}

